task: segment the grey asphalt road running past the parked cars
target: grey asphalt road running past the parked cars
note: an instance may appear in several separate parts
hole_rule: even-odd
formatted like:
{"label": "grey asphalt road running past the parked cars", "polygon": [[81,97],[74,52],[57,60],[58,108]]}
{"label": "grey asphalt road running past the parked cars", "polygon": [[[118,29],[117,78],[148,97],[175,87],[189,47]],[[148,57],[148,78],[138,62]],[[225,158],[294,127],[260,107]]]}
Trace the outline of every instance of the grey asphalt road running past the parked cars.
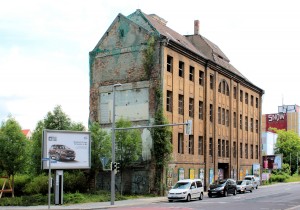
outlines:
{"label": "grey asphalt road running past the parked cars", "polygon": [[115,208],[118,210],[300,210],[300,183],[282,183],[260,186],[252,193],[209,198],[205,193],[202,201],[171,202],[135,205]]}

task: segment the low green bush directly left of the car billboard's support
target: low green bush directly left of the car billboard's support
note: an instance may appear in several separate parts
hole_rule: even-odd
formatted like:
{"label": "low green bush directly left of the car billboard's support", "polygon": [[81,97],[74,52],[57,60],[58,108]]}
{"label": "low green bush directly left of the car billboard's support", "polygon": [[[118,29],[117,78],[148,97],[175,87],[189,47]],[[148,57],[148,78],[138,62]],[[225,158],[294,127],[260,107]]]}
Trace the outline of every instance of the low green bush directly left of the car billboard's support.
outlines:
{"label": "low green bush directly left of the car billboard's support", "polygon": [[24,192],[29,195],[46,195],[48,193],[48,176],[41,174],[37,177],[34,177],[31,182],[25,185]]}

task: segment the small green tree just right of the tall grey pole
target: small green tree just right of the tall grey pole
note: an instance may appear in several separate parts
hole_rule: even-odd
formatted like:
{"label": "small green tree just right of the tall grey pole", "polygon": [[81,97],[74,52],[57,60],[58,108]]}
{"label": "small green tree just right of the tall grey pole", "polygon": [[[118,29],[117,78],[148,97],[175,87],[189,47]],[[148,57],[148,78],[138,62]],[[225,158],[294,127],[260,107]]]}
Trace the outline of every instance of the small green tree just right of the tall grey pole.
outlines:
{"label": "small green tree just right of the tall grey pole", "polygon": [[[117,128],[132,127],[128,120],[120,119],[116,122]],[[123,191],[122,171],[139,160],[142,155],[142,137],[140,130],[117,130],[116,131],[116,162],[120,165],[121,193]]]}

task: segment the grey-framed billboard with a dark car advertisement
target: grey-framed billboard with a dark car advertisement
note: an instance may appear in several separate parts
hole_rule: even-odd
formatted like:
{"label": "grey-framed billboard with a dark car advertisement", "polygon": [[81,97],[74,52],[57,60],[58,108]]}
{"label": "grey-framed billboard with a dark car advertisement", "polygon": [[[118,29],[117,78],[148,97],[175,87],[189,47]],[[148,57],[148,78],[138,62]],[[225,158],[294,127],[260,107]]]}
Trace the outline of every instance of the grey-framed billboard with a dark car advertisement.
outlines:
{"label": "grey-framed billboard with a dark car advertisement", "polygon": [[42,169],[89,169],[91,135],[89,132],[44,130]]}

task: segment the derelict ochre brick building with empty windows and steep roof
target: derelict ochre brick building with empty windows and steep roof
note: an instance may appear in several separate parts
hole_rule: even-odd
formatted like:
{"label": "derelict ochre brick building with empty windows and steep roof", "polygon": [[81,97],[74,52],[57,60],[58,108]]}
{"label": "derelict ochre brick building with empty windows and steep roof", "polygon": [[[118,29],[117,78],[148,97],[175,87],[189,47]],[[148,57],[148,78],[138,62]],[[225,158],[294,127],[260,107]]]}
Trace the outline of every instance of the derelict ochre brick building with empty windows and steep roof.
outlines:
{"label": "derelict ochre brick building with empty windows and steep roof", "polygon": [[[203,178],[207,186],[217,178],[252,174],[253,164],[261,162],[263,90],[199,34],[198,21],[195,33],[185,36],[166,23],[140,10],[115,18],[90,52],[90,121],[111,127],[112,85],[121,83],[116,89],[116,119],[151,125],[159,89],[169,123],[193,120],[192,135],[185,135],[183,126],[172,127],[167,186],[181,178]],[[147,163],[153,146],[147,129],[142,138],[142,159]],[[147,170],[137,173],[150,182]]]}

